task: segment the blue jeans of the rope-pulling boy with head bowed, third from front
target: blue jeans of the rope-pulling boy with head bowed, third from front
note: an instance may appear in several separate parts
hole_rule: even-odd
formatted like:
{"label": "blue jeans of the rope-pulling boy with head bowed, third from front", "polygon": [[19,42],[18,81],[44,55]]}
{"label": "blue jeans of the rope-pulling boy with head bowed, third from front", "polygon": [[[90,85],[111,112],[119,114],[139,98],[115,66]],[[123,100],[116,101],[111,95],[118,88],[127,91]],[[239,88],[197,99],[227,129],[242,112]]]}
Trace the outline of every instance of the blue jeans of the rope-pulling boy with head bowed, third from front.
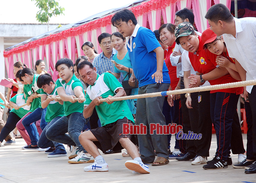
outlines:
{"label": "blue jeans of the rope-pulling boy with head bowed, third from front", "polygon": [[39,137],[39,140],[37,142],[38,147],[44,149],[44,148],[47,148],[47,147],[55,146],[56,149],[63,149],[63,150],[65,150],[65,147],[63,146],[63,144],[51,141],[51,140],[47,139],[47,137],[45,135],[46,131],[52,126],[52,124],[55,123],[60,118],[61,118],[60,116],[57,116],[57,117],[53,118],[51,122],[46,124],[46,127],[44,128],[44,130],[41,133],[41,135]]}

